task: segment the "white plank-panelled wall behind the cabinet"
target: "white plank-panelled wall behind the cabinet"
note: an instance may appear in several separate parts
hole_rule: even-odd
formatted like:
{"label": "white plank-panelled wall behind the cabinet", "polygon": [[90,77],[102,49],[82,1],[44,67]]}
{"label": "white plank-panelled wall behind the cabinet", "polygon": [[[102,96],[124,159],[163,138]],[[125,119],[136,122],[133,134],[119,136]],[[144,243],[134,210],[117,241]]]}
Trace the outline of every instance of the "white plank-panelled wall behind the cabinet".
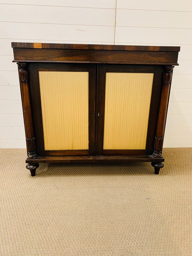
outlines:
{"label": "white plank-panelled wall behind the cabinet", "polygon": [[181,46],[164,147],[192,147],[191,0],[0,0],[0,148],[26,147],[11,42]]}

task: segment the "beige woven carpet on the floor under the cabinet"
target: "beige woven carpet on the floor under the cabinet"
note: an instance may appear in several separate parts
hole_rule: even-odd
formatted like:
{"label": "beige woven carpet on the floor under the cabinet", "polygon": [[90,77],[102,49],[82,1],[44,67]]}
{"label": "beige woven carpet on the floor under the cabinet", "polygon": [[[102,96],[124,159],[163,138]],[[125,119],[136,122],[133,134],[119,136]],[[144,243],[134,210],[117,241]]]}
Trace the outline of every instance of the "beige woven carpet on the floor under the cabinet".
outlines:
{"label": "beige woven carpet on the floor under the cabinet", "polygon": [[191,256],[192,148],[150,163],[41,164],[0,150],[0,255]]}

